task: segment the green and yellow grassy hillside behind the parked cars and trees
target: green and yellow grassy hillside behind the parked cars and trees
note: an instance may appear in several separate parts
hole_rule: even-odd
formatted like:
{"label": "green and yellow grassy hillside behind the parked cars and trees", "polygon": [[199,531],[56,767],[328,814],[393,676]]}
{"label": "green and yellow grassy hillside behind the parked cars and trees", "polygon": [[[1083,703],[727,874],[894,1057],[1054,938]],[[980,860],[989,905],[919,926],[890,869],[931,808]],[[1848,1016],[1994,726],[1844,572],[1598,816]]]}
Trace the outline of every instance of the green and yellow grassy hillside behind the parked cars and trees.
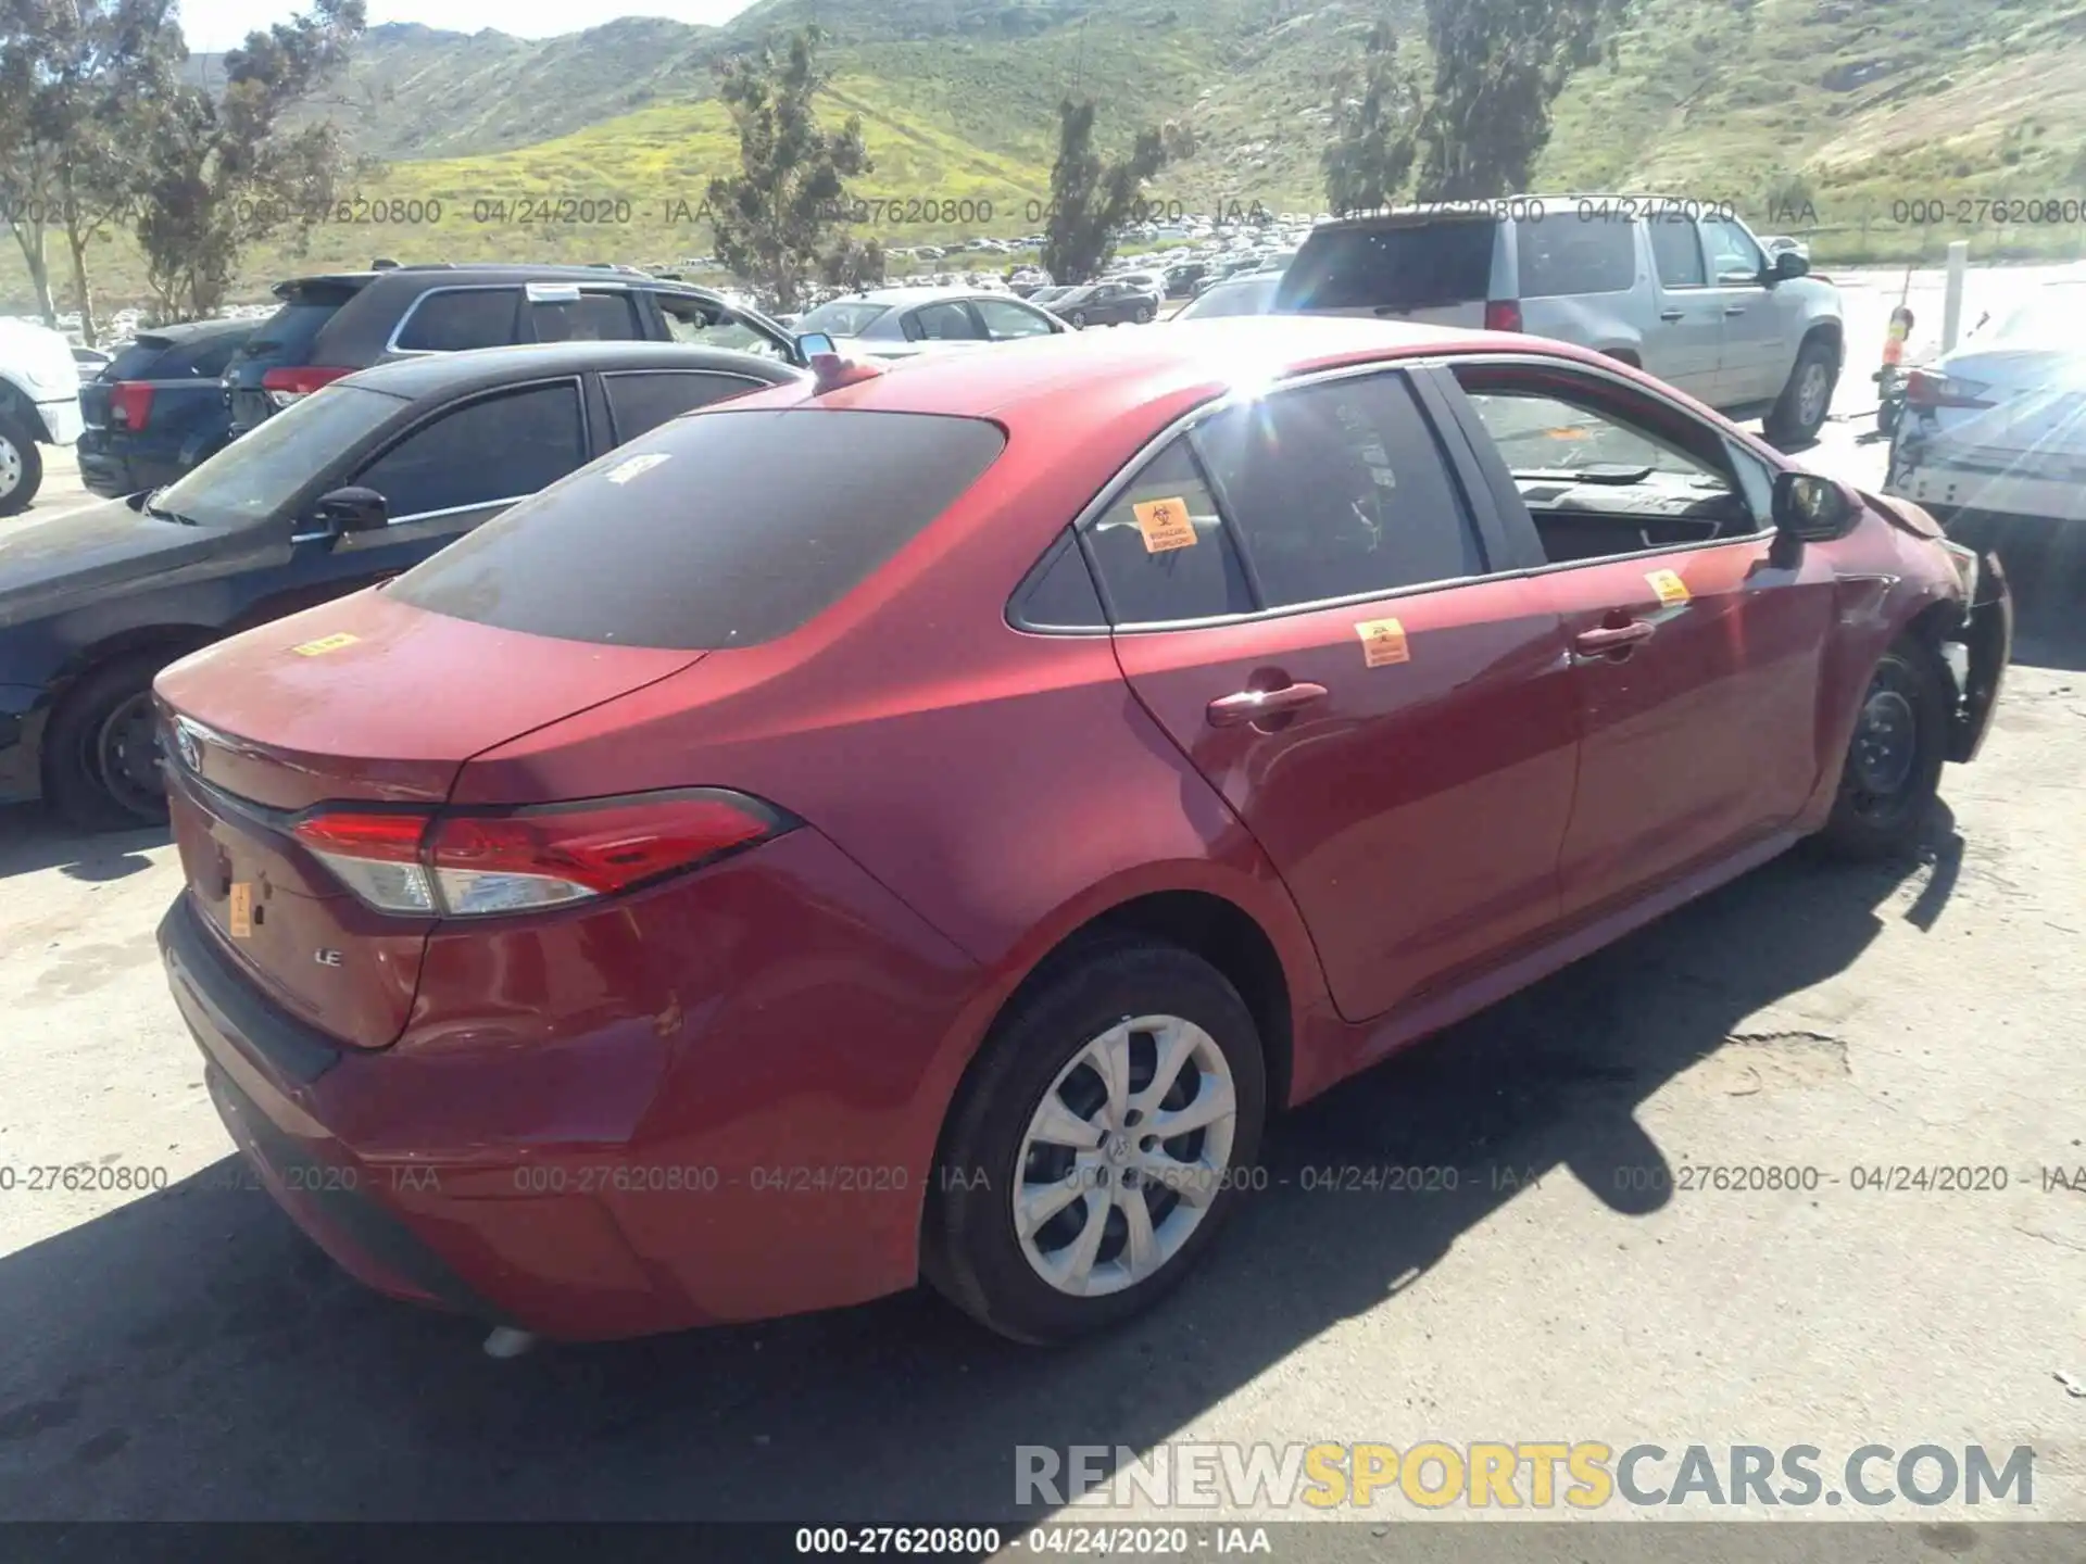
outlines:
{"label": "green and yellow grassy hillside behind the parked cars and trees", "polygon": [[[811,19],[832,38],[828,108],[862,117],[876,158],[857,194],[993,206],[989,223],[880,223],[887,244],[1037,229],[1068,90],[1101,100],[1110,140],[1162,119],[1195,129],[1156,198],[1310,211],[1329,83],[1375,15],[1362,0],[763,0],[726,27],[622,19],[547,42],[378,27],[313,113],[384,158],[363,198],[409,217],[440,202],[440,221],[328,225],[302,256],[263,248],[244,292],[371,254],[705,252],[707,225],[674,217],[736,161],[711,63]],[[1393,17],[1416,33],[1410,0]],[[209,79],[211,60],[192,69]],[[1539,184],[1733,200],[1761,227],[1811,234],[1821,259],[1936,259],[1950,238],[1973,256],[2082,254],[2086,0],[1638,0],[1612,63],[1558,104]],[[519,198],[605,221],[519,225]],[[2053,198],[2071,221],[2028,221]],[[2038,206],[2007,211],[2026,200]],[[125,240],[102,246],[96,284],[142,292]],[[0,309],[10,296],[19,309],[13,250]]]}

